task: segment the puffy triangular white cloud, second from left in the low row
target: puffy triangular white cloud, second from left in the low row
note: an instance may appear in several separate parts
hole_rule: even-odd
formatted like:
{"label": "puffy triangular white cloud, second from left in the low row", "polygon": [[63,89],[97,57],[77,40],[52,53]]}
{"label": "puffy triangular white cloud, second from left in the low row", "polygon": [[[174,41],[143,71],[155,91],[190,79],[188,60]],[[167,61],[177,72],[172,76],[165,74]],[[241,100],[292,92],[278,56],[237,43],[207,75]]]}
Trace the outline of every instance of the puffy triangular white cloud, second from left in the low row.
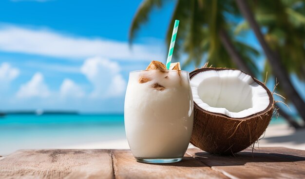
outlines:
{"label": "puffy triangular white cloud, second from left in the low row", "polygon": [[18,98],[46,98],[50,96],[50,91],[44,82],[43,75],[37,72],[30,81],[20,86],[16,96]]}

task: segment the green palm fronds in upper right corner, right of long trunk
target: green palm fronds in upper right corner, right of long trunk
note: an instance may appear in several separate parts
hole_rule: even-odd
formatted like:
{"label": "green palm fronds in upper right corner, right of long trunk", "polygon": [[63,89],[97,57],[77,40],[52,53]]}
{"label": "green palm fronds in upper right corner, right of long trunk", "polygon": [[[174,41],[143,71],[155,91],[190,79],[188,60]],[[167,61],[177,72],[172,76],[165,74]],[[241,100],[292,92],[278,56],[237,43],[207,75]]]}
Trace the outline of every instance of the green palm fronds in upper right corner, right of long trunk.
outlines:
{"label": "green palm fronds in upper right corner, right of long trunk", "polygon": [[[305,80],[304,0],[257,1],[251,7],[254,7],[256,21],[266,29],[267,44],[278,52],[286,71]],[[247,21],[245,23],[249,27]]]}

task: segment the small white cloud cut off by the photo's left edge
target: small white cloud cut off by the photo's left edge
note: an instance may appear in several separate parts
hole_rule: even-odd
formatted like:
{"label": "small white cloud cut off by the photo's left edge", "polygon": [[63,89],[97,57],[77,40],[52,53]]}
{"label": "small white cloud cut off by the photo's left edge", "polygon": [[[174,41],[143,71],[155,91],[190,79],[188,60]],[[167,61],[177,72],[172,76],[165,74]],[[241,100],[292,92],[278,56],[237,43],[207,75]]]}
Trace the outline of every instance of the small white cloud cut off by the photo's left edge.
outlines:
{"label": "small white cloud cut off by the photo's left edge", "polygon": [[19,69],[12,67],[9,63],[2,63],[0,65],[0,81],[10,82],[19,76]]}

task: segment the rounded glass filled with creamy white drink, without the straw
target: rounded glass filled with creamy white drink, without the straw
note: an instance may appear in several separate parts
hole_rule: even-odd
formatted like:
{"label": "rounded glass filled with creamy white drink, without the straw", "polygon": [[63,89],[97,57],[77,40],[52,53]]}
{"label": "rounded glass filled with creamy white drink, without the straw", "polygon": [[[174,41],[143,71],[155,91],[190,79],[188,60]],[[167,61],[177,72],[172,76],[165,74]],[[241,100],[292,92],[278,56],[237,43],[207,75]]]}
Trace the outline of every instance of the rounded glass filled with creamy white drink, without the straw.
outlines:
{"label": "rounded glass filled with creamy white drink, without the straw", "polygon": [[177,70],[131,72],[124,118],[128,143],[138,161],[180,161],[189,145],[193,126],[189,73]]}

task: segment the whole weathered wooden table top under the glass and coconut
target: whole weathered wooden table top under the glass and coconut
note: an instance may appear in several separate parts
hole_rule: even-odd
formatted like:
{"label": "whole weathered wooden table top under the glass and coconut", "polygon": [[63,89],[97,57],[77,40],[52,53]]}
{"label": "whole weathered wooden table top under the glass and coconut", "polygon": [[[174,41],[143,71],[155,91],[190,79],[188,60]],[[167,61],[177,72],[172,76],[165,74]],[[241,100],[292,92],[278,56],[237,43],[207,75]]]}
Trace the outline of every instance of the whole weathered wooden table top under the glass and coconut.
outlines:
{"label": "whole weathered wooden table top under the glass and coconut", "polygon": [[130,150],[19,150],[0,158],[0,179],[305,179],[305,150],[246,149],[217,156],[189,149],[182,162],[138,163]]}

